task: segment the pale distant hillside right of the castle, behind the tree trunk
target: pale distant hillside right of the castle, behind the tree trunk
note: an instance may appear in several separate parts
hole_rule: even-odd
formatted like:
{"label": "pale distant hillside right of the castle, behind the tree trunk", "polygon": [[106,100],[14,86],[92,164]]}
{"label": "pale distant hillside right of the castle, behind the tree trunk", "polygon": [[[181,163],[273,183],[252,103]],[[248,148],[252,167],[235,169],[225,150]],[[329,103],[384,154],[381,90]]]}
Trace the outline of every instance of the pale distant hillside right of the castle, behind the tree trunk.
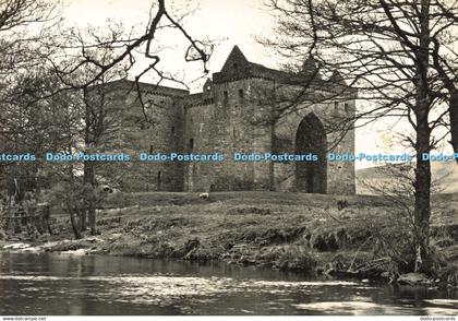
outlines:
{"label": "pale distant hillside right of the castle, behind the tree trunk", "polygon": [[[439,185],[442,193],[458,193],[458,165],[456,162],[432,162],[433,180]],[[357,170],[357,192],[359,194],[371,194],[366,183],[381,183],[389,178],[378,167],[363,168]],[[363,183],[366,182],[366,183]]]}

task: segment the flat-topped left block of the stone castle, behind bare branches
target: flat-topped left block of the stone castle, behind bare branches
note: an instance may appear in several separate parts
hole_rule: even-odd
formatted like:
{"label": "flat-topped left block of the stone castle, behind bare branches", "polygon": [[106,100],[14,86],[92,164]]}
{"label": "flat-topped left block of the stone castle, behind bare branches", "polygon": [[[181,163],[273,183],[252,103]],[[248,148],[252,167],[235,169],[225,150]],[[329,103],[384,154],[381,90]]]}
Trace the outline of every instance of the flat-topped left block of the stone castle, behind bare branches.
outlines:
{"label": "flat-topped left block of the stone castle, behind bare branches", "polygon": [[[116,182],[129,191],[182,191],[184,168],[179,162],[138,162],[140,153],[183,151],[183,96],[186,91],[142,84],[143,106],[133,82],[111,85],[108,117],[118,118],[114,131],[119,151],[134,157],[125,164],[100,164],[98,173],[112,168]],[[146,114],[146,117],[145,117]]]}

